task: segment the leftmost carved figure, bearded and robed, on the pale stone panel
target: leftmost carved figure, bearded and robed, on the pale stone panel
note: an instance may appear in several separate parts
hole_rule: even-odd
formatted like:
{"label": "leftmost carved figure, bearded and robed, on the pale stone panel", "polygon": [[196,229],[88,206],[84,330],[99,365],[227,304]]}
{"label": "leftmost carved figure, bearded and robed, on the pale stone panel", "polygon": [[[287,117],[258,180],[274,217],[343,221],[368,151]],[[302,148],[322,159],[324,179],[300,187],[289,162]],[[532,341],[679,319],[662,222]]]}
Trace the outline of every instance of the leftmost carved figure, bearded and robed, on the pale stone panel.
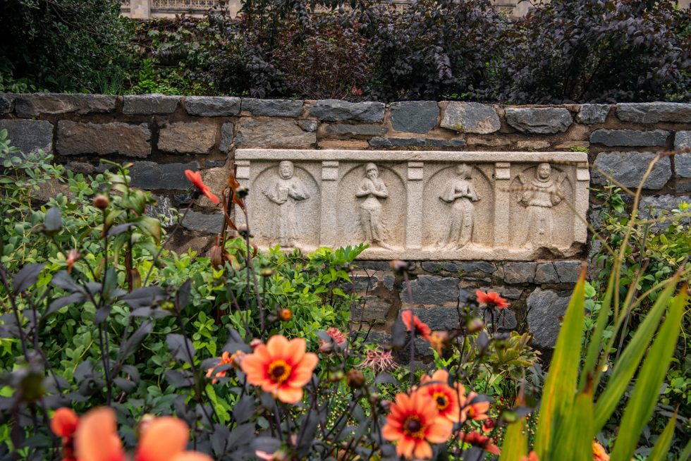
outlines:
{"label": "leftmost carved figure, bearded and robed, on the pale stone panel", "polygon": [[279,216],[274,221],[271,238],[279,241],[281,247],[294,247],[295,240],[300,238],[298,218],[295,216],[295,202],[310,198],[307,188],[300,179],[295,178],[295,167],[292,161],[284,160],[279,164],[279,177],[264,195],[271,202],[279,205]]}

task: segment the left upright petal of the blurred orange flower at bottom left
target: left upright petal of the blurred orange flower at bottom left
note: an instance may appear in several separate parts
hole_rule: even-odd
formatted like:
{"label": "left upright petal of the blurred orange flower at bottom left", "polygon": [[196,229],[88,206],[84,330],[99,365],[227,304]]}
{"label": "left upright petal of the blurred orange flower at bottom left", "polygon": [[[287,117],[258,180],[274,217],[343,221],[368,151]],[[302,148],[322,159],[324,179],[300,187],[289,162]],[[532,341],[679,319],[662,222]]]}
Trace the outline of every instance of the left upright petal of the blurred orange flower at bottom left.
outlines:
{"label": "left upright petal of the blurred orange flower at bottom left", "polygon": [[75,433],[75,453],[79,461],[125,459],[113,409],[96,408],[82,417]]}

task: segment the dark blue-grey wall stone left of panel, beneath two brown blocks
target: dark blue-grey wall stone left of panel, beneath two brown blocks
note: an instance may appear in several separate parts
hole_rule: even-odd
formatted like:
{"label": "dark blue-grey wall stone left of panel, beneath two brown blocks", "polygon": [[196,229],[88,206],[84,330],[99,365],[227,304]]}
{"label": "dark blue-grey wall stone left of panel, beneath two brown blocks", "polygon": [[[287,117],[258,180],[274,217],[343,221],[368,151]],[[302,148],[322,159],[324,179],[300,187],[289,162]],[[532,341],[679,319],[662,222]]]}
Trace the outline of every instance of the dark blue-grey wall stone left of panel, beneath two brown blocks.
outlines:
{"label": "dark blue-grey wall stone left of panel, beneath two brown blocks", "polygon": [[186,164],[159,164],[154,161],[135,161],[130,168],[132,185],[147,190],[187,190],[191,187],[185,170],[199,169],[197,161]]}

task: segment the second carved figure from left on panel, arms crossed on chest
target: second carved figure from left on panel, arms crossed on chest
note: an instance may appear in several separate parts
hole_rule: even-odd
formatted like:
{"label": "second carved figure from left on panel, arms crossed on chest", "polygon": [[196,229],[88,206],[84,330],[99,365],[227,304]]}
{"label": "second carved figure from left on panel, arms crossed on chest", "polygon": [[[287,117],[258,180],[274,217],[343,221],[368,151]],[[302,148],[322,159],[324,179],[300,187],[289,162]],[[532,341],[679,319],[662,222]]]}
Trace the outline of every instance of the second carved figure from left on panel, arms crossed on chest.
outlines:
{"label": "second carved figure from left on panel, arms crossed on chest", "polygon": [[360,204],[360,226],[365,233],[365,242],[378,245],[391,250],[384,242],[384,225],[381,222],[381,204],[379,199],[389,197],[386,184],[379,179],[379,168],[369,163],[365,166],[365,179],[360,183],[360,188],[355,192],[355,197],[367,197]]}

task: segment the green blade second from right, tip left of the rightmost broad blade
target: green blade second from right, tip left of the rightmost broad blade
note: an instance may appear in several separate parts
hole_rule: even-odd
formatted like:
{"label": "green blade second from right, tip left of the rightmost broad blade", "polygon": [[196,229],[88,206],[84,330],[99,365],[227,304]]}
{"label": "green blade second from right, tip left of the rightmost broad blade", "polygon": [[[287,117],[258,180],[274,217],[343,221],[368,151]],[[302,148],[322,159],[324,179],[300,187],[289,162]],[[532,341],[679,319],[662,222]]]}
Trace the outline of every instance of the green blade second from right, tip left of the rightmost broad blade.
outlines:
{"label": "green blade second from right, tip left of the rightmost broad blade", "polygon": [[638,364],[643,359],[645,350],[648,348],[652,340],[660,319],[665,312],[666,306],[674,293],[674,288],[677,285],[678,277],[670,279],[662,293],[655,301],[652,309],[649,310],[645,319],[642,321],[636,333],[626,346],[624,352],[619,356],[618,361],[614,364],[607,386],[600,394],[595,405],[595,432],[599,432],[606,424],[612,412],[619,404],[622,395],[626,391],[633,375],[638,369]]}

